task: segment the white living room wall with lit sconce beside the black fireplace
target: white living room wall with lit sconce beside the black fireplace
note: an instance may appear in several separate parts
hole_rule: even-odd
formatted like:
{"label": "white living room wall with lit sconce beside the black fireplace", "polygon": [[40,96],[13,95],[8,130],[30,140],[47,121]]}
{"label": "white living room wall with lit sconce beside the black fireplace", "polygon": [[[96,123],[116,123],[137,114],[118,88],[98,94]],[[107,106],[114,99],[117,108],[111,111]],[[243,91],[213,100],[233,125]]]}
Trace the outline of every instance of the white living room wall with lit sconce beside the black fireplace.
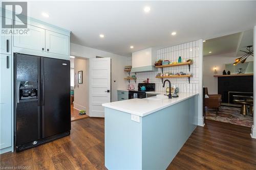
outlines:
{"label": "white living room wall with lit sconce beside the black fireplace", "polygon": [[[222,75],[225,64],[233,63],[236,58],[236,53],[203,57],[203,86],[208,88],[209,94],[218,94],[218,78],[214,77],[214,67],[217,68],[217,75]],[[248,57],[247,61],[253,61],[253,57]]]}

